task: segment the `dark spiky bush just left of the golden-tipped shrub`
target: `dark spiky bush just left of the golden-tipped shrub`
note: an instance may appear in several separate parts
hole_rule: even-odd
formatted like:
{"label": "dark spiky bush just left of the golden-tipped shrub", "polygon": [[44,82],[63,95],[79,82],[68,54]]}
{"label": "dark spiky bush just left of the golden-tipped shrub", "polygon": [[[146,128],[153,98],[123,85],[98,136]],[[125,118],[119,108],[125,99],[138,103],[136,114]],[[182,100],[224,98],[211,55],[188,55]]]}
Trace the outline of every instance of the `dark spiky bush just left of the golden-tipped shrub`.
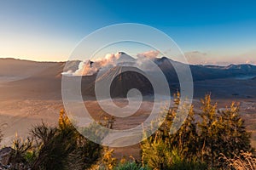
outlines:
{"label": "dark spiky bush just left of the golden-tipped shrub", "polygon": [[[39,129],[47,127],[38,126]],[[38,159],[34,162],[34,169],[67,169],[68,157],[76,150],[76,139],[73,130],[70,127],[67,129],[52,129],[48,128],[49,133],[46,136],[40,136],[38,148]],[[37,132],[37,131],[36,131]],[[51,133],[53,132],[53,133]],[[34,133],[34,136],[37,133]],[[50,137],[49,137],[49,136]],[[51,136],[52,135],[52,136]],[[44,142],[44,139],[49,139]]]}

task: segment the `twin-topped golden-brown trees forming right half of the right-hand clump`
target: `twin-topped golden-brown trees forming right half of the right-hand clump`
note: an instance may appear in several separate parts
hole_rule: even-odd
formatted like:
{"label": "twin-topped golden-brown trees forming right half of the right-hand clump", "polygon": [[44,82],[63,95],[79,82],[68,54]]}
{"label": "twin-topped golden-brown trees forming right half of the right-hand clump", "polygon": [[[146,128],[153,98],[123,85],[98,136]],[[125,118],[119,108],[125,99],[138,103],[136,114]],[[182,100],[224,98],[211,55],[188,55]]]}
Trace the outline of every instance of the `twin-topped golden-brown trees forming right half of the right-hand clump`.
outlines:
{"label": "twin-topped golden-brown trees forming right half of the right-hand clump", "polygon": [[201,103],[198,145],[201,147],[202,161],[212,168],[221,167],[218,161],[220,154],[232,157],[239,154],[240,150],[252,150],[250,133],[247,133],[239,115],[239,105],[232,103],[225,111],[217,111],[217,104],[212,105],[210,95],[206,95]]}

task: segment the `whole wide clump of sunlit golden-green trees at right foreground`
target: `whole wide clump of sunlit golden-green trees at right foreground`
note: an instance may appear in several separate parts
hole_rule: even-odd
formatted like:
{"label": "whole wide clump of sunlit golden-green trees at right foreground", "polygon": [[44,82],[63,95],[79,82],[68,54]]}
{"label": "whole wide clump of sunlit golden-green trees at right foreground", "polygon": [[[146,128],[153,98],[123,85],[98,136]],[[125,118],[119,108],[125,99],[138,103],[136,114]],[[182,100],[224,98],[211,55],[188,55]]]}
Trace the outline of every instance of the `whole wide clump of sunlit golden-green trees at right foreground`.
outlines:
{"label": "whole wide clump of sunlit golden-green trees at right foreground", "polygon": [[[226,163],[220,156],[231,158],[241,150],[253,151],[239,105],[232,103],[225,111],[218,111],[217,104],[206,95],[195,122],[193,106],[181,102],[179,94],[174,101],[160,129],[141,143],[143,165],[154,169],[215,169]],[[174,123],[183,120],[187,108],[185,122],[175,129]],[[170,133],[172,130],[176,133]]]}

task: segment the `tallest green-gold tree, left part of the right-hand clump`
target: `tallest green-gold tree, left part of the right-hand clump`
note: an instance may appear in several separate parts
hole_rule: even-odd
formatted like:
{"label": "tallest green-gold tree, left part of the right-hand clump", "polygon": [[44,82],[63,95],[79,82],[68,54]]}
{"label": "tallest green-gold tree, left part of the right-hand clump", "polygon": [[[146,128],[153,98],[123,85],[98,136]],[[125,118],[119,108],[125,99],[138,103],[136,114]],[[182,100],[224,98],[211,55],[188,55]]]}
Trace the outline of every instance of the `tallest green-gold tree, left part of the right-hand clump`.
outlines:
{"label": "tallest green-gold tree, left part of the right-hand clump", "polygon": [[[187,169],[204,169],[204,166],[195,165],[198,135],[193,106],[190,107],[183,102],[177,114],[181,101],[178,93],[174,97],[175,105],[167,111],[166,119],[160,129],[141,143],[143,165],[148,164],[154,169],[179,169],[178,165]],[[186,118],[184,116],[187,115],[188,108],[189,113]],[[181,127],[175,129],[177,132],[171,133],[174,118],[177,122],[184,119],[185,121]]]}

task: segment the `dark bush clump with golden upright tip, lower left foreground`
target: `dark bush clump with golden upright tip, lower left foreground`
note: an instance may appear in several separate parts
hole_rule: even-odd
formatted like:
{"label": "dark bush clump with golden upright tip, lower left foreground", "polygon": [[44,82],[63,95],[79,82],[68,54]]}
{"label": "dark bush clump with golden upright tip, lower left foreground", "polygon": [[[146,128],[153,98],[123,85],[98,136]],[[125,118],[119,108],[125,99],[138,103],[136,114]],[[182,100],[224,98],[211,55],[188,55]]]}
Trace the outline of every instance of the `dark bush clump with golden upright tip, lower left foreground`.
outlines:
{"label": "dark bush clump with golden upright tip, lower left foreground", "polygon": [[38,159],[34,169],[83,169],[90,167],[101,156],[102,147],[80,135],[64,111],[59,117],[59,127],[35,127]]}

